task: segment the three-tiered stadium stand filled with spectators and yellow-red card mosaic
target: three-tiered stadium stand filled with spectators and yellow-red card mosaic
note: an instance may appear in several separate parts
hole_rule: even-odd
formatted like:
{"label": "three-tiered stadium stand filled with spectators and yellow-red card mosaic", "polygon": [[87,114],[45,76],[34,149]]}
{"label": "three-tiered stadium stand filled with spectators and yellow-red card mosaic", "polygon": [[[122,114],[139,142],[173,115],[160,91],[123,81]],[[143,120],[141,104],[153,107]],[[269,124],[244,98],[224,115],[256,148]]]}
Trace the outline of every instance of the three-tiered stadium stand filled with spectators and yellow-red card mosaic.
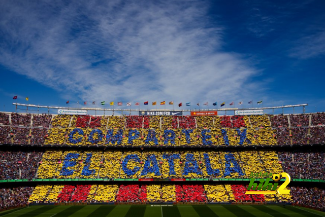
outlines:
{"label": "three-tiered stadium stand filled with spectators and yellow-red card mosaic", "polygon": [[[297,184],[287,188],[289,195],[245,192],[246,179],[256,171],[325,180],[325,153],[312,146],[325,143],[324,120],[323,113],[221,117],[0,113],[0,144],[14,145],[0,151],[1,180],[116,182],[2,187],[1,208],[27,202],[290,202],[323,208],[321,187]],[[194,181],[124,182],[153,178]],[[236,184],[222,181],[227,178],[246,179]],[[214,184],[212,179],[220,182]]]}

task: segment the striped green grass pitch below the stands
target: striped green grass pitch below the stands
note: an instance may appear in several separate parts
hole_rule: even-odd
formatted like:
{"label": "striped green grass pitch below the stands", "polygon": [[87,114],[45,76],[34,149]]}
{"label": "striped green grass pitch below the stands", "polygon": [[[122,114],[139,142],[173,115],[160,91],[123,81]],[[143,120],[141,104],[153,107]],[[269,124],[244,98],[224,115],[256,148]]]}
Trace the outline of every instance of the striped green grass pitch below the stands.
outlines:
{"label": "striped green grass pitch below the stands", "polygon": [[29,206],[1,212],[4,217],[315,217],[324,212],[277,205],[86,205]]}

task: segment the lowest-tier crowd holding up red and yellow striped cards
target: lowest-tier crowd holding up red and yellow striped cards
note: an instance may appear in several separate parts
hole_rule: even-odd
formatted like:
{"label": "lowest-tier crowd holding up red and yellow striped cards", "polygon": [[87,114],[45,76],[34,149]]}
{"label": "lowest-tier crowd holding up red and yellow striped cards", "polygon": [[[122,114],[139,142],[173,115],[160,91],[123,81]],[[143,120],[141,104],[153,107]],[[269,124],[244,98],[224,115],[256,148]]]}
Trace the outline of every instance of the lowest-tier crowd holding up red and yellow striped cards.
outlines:
{"label": "lowest-tier crowd holding up red and yellow striped cards", "polygon": [[[291,202],[302,201],[298,187],[289,195],[246,195],[247,185],[66,185],[37,186],[29,198],[29,203],[42,202]],[[254,190],[254,189],[252,189]],[[324,201],[324,190],[312,188],[311,198]],[[53,197],[54,196],[54,197]],[[28,199],[28,198],[27,198]],[[306,200],[307,201],[307,200]],[[315,206],[313,204],[312,206]]]}

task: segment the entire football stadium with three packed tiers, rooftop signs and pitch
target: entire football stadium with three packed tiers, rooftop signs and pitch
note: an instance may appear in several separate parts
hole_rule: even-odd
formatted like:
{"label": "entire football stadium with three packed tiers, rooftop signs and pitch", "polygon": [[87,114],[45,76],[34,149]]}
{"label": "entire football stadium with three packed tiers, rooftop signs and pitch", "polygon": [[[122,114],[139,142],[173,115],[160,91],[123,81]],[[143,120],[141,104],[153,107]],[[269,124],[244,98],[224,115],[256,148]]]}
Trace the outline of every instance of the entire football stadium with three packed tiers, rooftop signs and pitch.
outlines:
{"label": "entire football stadium with three packed tiers, rooftop signs and pitch", "polygon": [[83,111],[0,113],[0,216],[325,216],[324,113]]}

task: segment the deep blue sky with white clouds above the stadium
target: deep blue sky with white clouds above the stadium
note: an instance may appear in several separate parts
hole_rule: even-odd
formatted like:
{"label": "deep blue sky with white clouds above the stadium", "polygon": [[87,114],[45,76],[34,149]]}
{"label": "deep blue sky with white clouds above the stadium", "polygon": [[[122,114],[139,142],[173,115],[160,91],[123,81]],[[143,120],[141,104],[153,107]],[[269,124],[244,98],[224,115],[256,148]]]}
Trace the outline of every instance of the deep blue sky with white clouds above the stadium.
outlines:
{"label": "deep blue sky with white clouds above the stadium", "polygon": [[29,97],[323,112],[323,11],[324,1],[1,1],[1,111]]}

